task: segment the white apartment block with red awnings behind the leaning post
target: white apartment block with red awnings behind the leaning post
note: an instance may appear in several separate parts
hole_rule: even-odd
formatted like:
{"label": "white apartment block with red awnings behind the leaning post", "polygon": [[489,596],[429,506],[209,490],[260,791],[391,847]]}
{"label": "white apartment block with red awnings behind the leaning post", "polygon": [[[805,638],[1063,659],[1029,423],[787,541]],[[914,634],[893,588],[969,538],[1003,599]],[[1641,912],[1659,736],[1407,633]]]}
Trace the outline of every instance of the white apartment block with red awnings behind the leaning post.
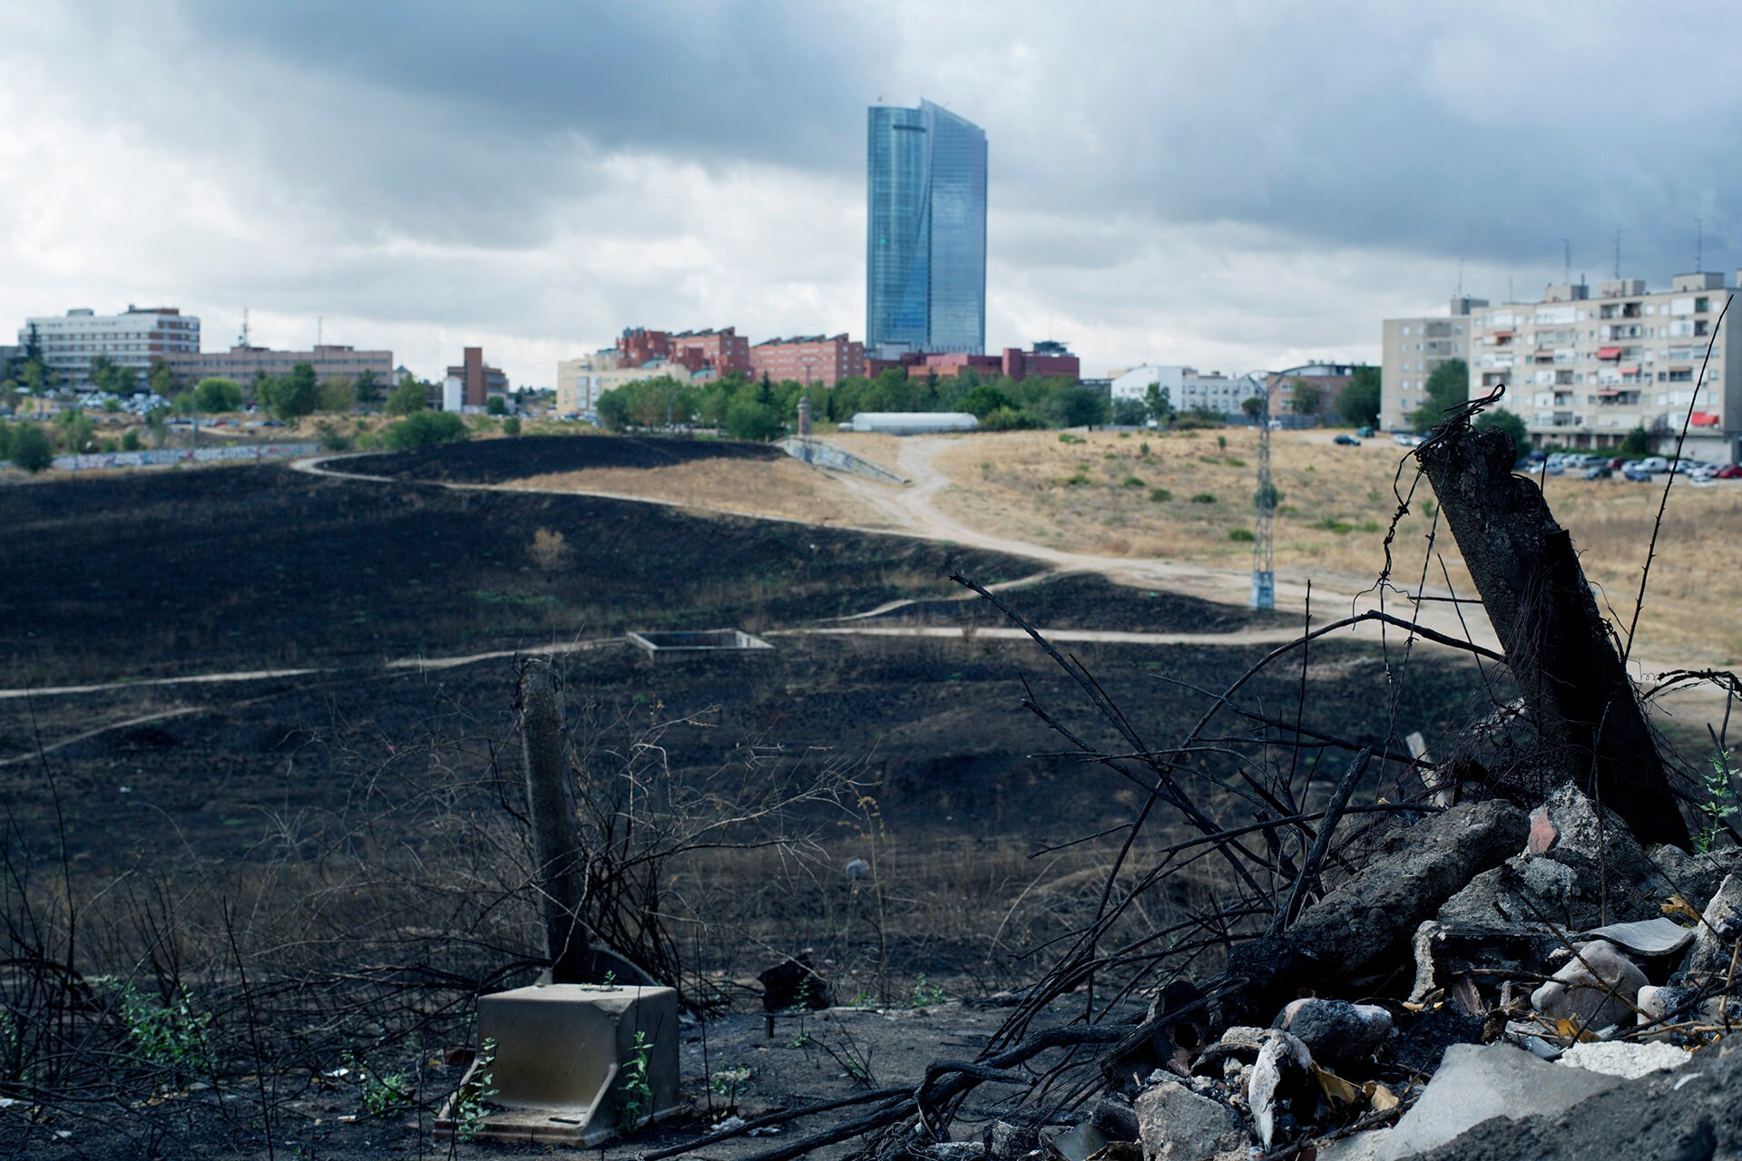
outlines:
{"label": "white apartment block with red awnings behind the leaning post", "polygon": [[[1691,409],[1683,456],[1735,463],[1742,444],[1742,338],[1735,320],[1700,362],[1732,287],[1721,273],[1550,285],[1540,303],[1472,313],[1470,395],[1507,385],[1500,404],[1538,444],[1617,447],[1636,426],[1667,451]],[[1698,383],[1698,399],[1695,386]],[[1667,437],[1667,439],[1665,439]]]}

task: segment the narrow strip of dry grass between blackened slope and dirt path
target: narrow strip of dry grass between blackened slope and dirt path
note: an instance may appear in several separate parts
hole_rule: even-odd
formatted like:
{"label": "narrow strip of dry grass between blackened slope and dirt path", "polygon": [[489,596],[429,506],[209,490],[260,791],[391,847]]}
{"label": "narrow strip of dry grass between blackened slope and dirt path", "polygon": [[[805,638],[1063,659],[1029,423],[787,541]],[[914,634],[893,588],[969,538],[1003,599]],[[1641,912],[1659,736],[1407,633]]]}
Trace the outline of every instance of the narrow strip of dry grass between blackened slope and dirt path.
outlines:
{"label": "narrow strip of dry grass between blackened slope and dirt path", "polygon": [[706,460],[669,468],[587,468],[503,484],[519,491],[611,493],[817,524],[876,524],[831,475],[796,460]]}

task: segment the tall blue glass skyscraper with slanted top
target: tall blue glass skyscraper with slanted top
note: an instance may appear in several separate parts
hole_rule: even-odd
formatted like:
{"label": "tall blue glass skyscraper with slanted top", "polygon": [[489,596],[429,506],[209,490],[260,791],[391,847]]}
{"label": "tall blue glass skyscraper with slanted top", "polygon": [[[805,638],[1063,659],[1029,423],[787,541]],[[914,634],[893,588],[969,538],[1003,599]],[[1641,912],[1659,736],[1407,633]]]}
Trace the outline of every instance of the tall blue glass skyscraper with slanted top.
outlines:
{"label": "tall blue glass skyscraper with slanted top", "polygon": [[930,101],[874,104],[866,353],[986,353],[986,131]]}

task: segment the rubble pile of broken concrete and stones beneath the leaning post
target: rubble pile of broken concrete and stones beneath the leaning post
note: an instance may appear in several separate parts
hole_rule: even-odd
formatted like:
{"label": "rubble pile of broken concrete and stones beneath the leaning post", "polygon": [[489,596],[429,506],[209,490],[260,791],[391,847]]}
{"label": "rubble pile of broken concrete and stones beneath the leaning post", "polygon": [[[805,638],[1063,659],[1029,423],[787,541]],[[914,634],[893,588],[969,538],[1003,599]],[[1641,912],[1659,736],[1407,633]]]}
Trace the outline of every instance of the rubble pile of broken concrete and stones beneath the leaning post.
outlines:
{"label": "rubble pile of broken concrete and stones beneath the leaning post", "polygon": [[1176,982],[1146,1022],[1153,1051],[1120,1062],[1078,1124],[1000,1121],[974,1152],[1732,1156],[1739,936],[1739,849],[1644,849],[1573,785],[1531,813],[1455,806],[1397,827],[1284,933],[1237,945],[1246,987],[1205,1003]]}

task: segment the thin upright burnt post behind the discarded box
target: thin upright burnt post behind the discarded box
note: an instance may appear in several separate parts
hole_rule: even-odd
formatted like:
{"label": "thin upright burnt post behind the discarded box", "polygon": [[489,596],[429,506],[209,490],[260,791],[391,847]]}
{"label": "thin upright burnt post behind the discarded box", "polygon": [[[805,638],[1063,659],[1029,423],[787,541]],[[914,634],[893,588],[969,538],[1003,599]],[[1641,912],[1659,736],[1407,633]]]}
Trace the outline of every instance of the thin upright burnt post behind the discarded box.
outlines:
{"label": "thin upright burnt post behind the discarded box", "polygon": [[545,658],[521,667],[521,745],[526,755],[526,804],[533,822],[533,879],[538,886],[556,983],[587,983],[592,947],[582,921],[585,856],[575,837],[563,745],[563,682]]}

